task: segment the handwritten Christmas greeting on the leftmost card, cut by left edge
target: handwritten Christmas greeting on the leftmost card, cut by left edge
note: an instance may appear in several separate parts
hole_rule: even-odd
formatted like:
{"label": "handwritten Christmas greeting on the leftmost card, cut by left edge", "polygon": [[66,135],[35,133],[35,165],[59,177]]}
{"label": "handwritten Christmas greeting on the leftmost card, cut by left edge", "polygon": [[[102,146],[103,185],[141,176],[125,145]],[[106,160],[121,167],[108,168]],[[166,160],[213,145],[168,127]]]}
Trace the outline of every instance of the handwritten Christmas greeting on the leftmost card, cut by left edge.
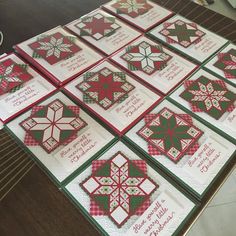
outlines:
{"label": "handwritten Christmas greeting on the leftmost card, cut by left edge", "polygon": [[2,99],[0,107],[6,107],[8,112],[14,113],[36,102],[46,94],[47,89],[39,81],[35,80]]}

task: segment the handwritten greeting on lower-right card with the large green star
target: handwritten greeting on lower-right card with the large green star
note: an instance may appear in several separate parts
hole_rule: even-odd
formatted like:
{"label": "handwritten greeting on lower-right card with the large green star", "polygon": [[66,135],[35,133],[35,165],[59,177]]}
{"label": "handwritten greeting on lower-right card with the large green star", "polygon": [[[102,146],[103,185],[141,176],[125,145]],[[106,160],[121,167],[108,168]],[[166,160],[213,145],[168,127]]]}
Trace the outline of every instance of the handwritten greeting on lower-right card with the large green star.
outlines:
{"label": "handwritten greeting on lower-right card with the large green star", "polygon": [[208,138],[195,154],[190,157],[184,170],[195,177],[200,183],[205,183],[221,167],[222,160],[228,150],[212,138]]}

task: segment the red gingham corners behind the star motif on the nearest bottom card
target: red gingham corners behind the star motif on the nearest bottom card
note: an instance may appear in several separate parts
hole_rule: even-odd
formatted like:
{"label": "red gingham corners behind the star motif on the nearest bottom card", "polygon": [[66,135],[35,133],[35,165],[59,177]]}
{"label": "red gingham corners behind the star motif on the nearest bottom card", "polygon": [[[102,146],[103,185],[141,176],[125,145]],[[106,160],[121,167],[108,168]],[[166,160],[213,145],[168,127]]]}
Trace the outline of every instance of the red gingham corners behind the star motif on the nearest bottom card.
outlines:
{"label": "red gingham corners behind the star motif on the nearest bottom card", "polygon": [[[92,173],[94,174],[96,170],[101,167],[106,160],[96,160],[92,162]],[[145,174],[147,174],[147,165],[145,161],[142,160],[134,160],[133,163],[139,167],[140,170],[142,170]],[[136,215],[142,215],[144,211],[151,205],[150,199],[148,199],[142,206],[140,206],[137,211]],[[91,199],[90,201],[90,214],[92,216],[102,216],[106,215],[106,213],[100,209],[100,207],[96,204],[96,202]]]}

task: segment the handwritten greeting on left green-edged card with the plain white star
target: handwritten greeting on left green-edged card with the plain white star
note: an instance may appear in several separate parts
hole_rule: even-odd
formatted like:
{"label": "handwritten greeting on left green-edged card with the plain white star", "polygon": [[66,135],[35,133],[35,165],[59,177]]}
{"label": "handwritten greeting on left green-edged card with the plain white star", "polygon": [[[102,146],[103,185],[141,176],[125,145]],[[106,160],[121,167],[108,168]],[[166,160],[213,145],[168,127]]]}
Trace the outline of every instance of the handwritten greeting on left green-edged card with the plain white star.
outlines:
{"label": "handwritten greeting on left green-edged card with the plain white star", "polygon": [[103,137],[95,129],[88,129],[54,155],[68,172],[78,168],[103,145]]}

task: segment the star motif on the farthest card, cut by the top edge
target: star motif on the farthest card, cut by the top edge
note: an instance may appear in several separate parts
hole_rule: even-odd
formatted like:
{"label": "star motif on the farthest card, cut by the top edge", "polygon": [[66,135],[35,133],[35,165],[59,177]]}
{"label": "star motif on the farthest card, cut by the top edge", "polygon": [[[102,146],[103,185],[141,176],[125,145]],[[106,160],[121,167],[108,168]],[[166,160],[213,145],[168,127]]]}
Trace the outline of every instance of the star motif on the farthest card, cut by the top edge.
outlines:
{"label": "star motif on the farthest card, cut by the top edge", "polygon": [[117,0],[111,6],[117,10],[117,14],[125,14],[132,18],[143,15],[153,8],[146,0]]}

